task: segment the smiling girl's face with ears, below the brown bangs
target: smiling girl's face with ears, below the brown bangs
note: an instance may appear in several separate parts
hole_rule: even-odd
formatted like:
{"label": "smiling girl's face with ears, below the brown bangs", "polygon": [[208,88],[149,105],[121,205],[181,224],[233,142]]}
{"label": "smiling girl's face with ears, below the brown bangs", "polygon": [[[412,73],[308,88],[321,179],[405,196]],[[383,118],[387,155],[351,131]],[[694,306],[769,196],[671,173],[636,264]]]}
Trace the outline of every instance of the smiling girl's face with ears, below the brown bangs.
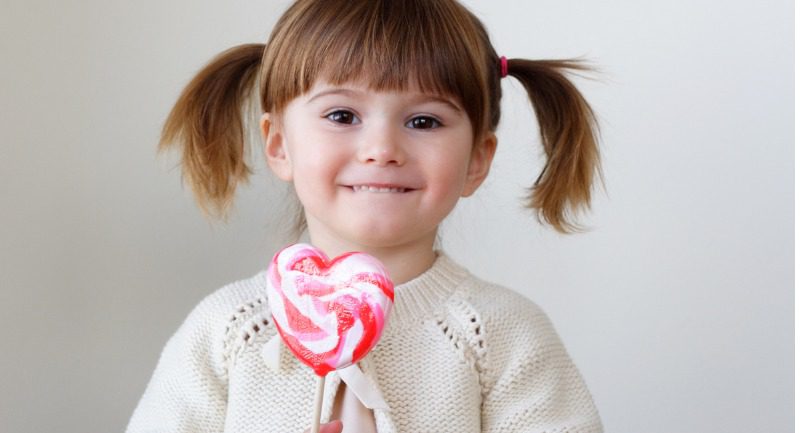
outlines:
{"label": "smiling girl's face with ears, below the brown bangs", "polygon": [[329,254],[432,248],[439,223],[486,177],[496,143],[488,134],[473,147],[454,100],[359,83],[318,81],[261,125],[270,167],[294,183],[312,243],[340,250]]}

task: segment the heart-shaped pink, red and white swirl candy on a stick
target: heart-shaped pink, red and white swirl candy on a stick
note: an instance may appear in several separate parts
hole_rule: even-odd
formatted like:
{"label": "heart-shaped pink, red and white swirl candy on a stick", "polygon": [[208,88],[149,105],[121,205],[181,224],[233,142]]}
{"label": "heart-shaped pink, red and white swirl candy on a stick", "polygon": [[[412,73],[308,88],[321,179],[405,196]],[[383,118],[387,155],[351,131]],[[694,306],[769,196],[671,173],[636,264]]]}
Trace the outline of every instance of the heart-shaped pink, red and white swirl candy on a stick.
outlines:
{"label": "heart-shaped pink, red and white swirl candy on a stick", "polygon": [[275,254],[267,272],[272,317],[289,350],[319,376],[358,362],[378,343],[394,285],[378,259],[333,260],[307,244]]}

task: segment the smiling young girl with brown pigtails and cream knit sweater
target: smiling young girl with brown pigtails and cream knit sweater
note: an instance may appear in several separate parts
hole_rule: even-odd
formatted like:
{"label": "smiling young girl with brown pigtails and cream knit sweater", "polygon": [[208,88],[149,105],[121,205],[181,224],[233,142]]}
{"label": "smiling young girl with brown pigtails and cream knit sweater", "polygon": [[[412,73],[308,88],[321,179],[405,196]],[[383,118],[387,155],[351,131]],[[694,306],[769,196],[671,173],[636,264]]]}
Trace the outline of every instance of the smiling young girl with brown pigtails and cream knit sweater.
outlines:
{"label": "smiling young girl with brown pigtails and cream knit sweater", "polygon": [[[225,51],[184,90],[161,146],[181,146],[206,214],[224,216],[250,174],[242,107],[257,83],[264,154],[302,204],[298,228],[329,257],[372,254],[395,283],[384,335],[358,364],[366,384],[327,378],[323,431],[602,431],[546,314],[435,246],[489,172],[506,76],[527,90],[547,155],[530,206],[557,231],[576,229],[567,211],[588,207],[600,172],[596,122],[567,69],[588,70],[498,56],[455,0],[298,0],[266,45]],[[197,305],[128,432],[308,428],[316,377],[287,351],[267,362],[265,286],[261,270]],[[360,397],[364,387],[385,405]]]}

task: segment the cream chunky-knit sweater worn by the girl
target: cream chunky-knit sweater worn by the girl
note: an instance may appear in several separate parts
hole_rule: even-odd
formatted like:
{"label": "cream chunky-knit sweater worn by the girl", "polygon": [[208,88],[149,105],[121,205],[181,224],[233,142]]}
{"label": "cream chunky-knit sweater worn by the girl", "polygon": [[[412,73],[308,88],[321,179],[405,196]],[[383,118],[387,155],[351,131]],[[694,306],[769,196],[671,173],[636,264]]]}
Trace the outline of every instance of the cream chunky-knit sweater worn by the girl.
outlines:
{"label": "cream chunky-knit sweater worn by the girl", "polygon": [[[266,271],[207,296],[170,338],[128,425],[139,432],[302,433],[316,376],[261,348],[276,329]],[[439,253],[395,287],[383,337],[361,369],[389,405],[379,433],[599,433],[592,397],[546,314],[525,297],[472,276]],[[328,375],[322,421],[339,384]]]}

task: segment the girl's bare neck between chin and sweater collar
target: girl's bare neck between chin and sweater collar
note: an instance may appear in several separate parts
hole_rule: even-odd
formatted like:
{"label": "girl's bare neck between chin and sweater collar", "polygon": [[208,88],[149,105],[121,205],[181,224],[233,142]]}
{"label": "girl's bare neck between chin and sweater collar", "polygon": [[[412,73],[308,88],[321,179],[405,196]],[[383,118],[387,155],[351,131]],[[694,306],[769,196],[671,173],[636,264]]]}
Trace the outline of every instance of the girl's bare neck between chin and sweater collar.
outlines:
{"label": "girl's bare neck between chin and sweater collar", "polygon": [[436,253],[433,242],[436,233],[415,242],[390,247],[371,247],[366,245],[351,244],[330,239],[326,236],[314,236],[309,233],[311,244],[321,249],[325,254],[334,258],[350,251],[360,251],[377,258],[389,271],[389,277],[395,286],[408,282],[433,266]]}

